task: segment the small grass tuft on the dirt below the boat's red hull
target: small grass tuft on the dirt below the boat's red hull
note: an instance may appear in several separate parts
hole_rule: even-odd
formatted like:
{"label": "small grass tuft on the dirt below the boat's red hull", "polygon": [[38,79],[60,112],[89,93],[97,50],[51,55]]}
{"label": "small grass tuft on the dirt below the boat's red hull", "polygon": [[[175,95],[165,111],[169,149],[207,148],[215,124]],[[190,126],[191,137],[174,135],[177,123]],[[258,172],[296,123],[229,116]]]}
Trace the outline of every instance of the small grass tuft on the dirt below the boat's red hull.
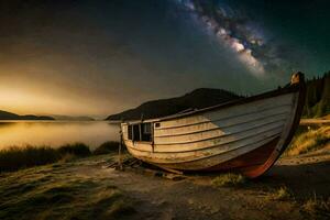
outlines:
{"label": "small grass tuft on the dirt below the boat's red hull", "polygon": [[222,174],[216,178],[212,179],[212,185],[219,186],[219,187],[226,187],[226,186],[242,186],[246,183],[246,178],[242,176],[241,174]]}

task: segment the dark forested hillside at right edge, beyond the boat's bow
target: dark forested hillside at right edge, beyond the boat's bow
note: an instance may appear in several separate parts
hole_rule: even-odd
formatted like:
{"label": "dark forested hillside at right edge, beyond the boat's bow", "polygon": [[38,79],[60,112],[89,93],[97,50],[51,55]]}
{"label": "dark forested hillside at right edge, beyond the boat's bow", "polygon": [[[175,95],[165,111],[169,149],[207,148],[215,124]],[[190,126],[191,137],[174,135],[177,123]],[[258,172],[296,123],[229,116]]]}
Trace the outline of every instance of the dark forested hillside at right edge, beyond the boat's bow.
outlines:
{"label": "dark forested hillside at right edge, beyond the boat's bow", "polygon": [[330,114],[330,72],[322,77],[307,80],[305,118],[318,118]]}

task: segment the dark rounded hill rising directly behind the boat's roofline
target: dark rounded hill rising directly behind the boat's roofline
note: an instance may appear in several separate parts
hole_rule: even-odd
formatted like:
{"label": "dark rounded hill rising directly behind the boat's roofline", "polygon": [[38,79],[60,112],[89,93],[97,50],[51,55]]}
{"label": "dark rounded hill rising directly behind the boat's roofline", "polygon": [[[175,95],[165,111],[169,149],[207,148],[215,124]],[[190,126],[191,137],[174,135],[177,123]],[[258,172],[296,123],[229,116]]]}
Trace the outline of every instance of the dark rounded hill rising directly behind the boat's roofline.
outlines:
{"label": "dark rounded hill rising directly behind the boat's roofline", "polygon": [[106,120],[153,119],[178,113],[189,109],[202,109],[242,97],[223,89],[200,88],[182,97],[147,101],[121,113],[109,116]]}

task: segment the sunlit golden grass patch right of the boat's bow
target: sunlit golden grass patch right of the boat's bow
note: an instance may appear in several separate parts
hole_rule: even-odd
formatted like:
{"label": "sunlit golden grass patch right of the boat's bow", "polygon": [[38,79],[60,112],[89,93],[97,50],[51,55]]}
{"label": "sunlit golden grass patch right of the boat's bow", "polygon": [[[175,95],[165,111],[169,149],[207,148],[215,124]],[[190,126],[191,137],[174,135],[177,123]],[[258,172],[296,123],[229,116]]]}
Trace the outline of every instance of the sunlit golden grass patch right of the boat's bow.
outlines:
{"label": "sunlit golden grass patch right of the boat's bow", "polygon": [[330,127],[300,131],[294,138],[286,154],[289,156],[305,154],[322,148],[328,143],[330,143]]}

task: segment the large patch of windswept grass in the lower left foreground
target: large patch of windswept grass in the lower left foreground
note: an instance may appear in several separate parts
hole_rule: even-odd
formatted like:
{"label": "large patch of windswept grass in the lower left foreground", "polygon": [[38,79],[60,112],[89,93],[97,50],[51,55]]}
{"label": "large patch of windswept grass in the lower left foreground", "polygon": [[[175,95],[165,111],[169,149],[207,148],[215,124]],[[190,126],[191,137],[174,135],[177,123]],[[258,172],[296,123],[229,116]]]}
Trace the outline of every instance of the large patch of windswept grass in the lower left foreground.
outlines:
{"label": "large patch of windswept grass in the lower left foreground", "polygon": [[41,166],[3,174],[0,219],[120,219],[135,213],[131,200],[107,178]]}

